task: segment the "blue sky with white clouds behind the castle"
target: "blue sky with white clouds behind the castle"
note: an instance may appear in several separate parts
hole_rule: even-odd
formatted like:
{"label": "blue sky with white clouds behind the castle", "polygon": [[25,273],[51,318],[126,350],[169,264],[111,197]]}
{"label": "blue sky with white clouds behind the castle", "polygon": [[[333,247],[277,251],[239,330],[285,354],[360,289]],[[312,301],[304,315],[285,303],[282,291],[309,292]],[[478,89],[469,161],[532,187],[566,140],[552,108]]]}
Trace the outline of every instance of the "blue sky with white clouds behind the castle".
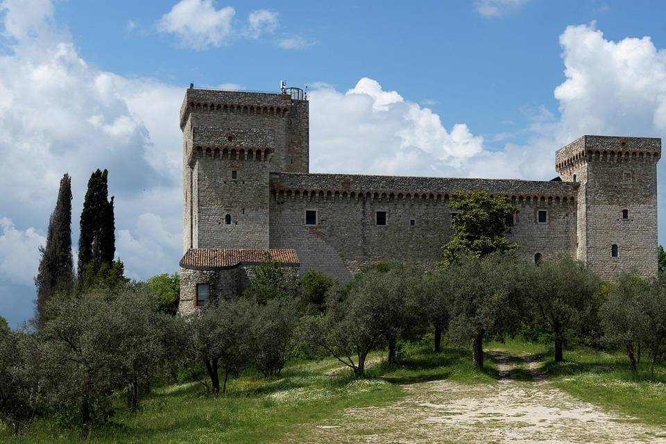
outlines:
{"label": "blue sky with white clouds behind the castle", "polygon": [[33,316],[66,172],[75,253],[87,180],[106,168],[126,275],[178,271],[190,83],[307,85],[312,172],[549,180],[556,149],[581,135],[666,135],[665,12],[639,0],[0,0],[0,316]]}

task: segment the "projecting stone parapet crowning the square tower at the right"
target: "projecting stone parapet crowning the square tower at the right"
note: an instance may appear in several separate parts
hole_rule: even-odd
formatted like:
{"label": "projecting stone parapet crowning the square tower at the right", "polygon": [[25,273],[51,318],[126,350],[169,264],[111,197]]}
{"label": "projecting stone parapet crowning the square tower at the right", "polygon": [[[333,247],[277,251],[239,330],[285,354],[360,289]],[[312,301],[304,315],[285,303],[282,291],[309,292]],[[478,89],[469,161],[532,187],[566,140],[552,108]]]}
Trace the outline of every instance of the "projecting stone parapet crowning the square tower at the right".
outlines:
{"label": "projecting stone parapet crowning the square tower at the right", "polygon": [[617,137],[584,135],[555,152],[557,170],[582,160],[622,162],[631,159],[657,161],[661,139],[656,137]]}

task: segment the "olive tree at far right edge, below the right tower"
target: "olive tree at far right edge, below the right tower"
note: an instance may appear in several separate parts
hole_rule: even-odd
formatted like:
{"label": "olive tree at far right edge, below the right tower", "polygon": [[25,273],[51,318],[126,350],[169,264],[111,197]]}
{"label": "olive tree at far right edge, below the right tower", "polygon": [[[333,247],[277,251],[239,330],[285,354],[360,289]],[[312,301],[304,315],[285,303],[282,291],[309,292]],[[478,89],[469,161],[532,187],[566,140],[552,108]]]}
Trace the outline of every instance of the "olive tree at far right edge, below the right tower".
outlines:
{"label": "olive tree at far right edge, below the right tower", "polygon": [[666,352],[666,290],[635,273],[622,275],[610,287],[601,306],[601,322],[608,343],[621,345],[634,374],[638,373],[636,348],[644,345],[651,357],[651,373]]}

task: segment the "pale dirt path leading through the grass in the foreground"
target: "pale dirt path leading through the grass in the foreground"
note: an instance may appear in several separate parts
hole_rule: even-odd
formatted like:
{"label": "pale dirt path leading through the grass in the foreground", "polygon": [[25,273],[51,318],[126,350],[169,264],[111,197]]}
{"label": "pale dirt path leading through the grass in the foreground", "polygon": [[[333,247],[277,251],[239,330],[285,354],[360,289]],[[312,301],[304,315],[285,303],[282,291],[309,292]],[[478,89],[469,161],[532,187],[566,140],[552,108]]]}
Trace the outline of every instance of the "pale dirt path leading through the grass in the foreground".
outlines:
{"label": "pale dirt path leading through the grass in the foreground", "polygon": [[404,385],[408,395],[395,404],[346,409],[304,426],[298,439],[294,435],[287,442],[666,443],[664,429],[558,390],[538,373],[538,361],[491,354],[502,375],[496,384],[444,380]]}

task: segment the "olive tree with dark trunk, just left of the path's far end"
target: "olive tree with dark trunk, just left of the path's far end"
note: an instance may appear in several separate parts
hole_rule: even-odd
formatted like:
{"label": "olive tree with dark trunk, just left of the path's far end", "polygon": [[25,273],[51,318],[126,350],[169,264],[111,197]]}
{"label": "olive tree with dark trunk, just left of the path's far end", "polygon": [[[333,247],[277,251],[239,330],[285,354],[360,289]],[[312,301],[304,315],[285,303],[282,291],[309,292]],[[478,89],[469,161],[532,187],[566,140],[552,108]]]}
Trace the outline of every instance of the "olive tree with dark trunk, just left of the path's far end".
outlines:
{"label": "olive tree with dark trunk, just left of the path's far end", "polygon": [[512,292],[513,257],[490,255],[485,259],[458,257],[450,265],[450,336],[472,344],[472,365],[484,367],[484,338],[504,334],[518,319],[518,300]]}

